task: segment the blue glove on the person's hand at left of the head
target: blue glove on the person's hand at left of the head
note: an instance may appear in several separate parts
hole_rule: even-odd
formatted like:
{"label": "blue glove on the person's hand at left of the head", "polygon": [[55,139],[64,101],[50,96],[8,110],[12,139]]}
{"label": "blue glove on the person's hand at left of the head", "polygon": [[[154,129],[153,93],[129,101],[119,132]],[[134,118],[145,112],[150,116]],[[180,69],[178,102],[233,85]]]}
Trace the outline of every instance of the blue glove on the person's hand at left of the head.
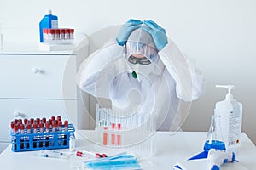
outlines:
{"label": "blue glove on the person's hand at left of the head", "polygon": [[130,19],[121,27],[118,36],[116,37],[116,41],[120,46],[125,45],[128,37],[130,36],[131,32],[140,28],[143,22],[141,20],[134,20]]}

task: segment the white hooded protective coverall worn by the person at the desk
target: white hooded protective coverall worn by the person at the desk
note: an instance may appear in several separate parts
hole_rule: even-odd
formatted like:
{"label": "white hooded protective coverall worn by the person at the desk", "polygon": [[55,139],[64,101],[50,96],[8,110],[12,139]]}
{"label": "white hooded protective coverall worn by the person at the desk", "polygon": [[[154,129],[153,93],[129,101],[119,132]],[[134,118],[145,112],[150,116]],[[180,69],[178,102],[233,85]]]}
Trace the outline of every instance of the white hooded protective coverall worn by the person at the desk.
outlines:
{"label": "white hooded protective coverall worn by the person at the desk", "polygon": [[[151,64],[131,64],[132,54],[142,54]],[[113,109],[131,115],[155,114],[158,130],[177,131],[191,101],[201,95],[203,77],[192,61],[171,39],[158,52],[151,35],[139,28],[131,32],[125,47],[113,39],[90,54],[79,68],[77,83],[96,98],[110,99]],[[187,109],[182,109],[182,103]]]}

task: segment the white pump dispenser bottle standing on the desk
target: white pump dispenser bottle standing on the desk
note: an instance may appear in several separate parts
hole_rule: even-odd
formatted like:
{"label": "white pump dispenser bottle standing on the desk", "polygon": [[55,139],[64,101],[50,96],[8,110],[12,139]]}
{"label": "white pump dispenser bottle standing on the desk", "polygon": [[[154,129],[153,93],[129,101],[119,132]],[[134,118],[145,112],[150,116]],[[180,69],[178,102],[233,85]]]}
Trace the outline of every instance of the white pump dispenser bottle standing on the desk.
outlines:
{"label": "white pump dispenser bottle standing on the desk", "polygon": [[216,88],[229,90],[226,98],[216,103],[214,116],[220,117],[219,126],[225,146],[227,149],[231,149],[241,144],[242,105],[233,99],[231,89],[235,88],[234,85],[216,85]]}

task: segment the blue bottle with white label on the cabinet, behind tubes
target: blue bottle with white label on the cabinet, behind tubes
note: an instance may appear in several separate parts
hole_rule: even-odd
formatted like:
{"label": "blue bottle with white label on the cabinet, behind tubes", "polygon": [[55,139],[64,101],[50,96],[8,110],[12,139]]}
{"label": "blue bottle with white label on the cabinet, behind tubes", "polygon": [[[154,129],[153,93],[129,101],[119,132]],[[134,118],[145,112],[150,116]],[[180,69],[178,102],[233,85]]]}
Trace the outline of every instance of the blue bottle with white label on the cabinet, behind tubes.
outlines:
{"label": "blue bottle with white label on the cabinet, behind tubes", "polygon": [[44,15],[44,18],[39,23],[40,42],[44,42],[44,28],[58,28],[58,17],[52,15],[51,10],[49,10],[49,14]]}

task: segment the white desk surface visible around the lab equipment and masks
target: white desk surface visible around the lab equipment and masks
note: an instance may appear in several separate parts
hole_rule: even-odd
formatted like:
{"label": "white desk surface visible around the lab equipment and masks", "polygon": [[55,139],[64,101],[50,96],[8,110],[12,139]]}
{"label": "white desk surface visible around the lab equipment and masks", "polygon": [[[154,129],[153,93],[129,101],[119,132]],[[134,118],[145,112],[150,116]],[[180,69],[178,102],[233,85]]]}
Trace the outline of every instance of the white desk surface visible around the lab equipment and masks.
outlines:
{"label": "white desk surface visible around the lab equipment and masks", "polygon": [[[84,131],[82,132],[84,133]],[[78,135],[79,136],[79,135]],[[155,156],[144,156],[147,157],[142,161],[144,169],[172,169],[173,165],[178,160],[183,160],[194,156],[196,153],[202,150],[202,144],[206,139],[207,133],[189,133],[179,132],[175,135],[170,135],[166,132],[155,133],[155,147],[157,147],[157,153]],[[97,146],[85,139],[76,140],[77,150],[94,150]],[[66,150],[62,150],[66,151]],[[101,151],[101,150],[97,150]],[[109,154],[113,149],[106,149],[102,152]],[[116,150],[114,150],[115,152]],[[4,170],[51,170],[51,169],[77,169],[86,158],[80,158],[77,156],[71,156],[67,160],[43,158],[35,156],[38,151],[30,152],[12,152],[11,145],[3,151],[0,155],[0,166]],[[236,152],[239,167],[243,169],[256,169],[256,148],[250,139],[247,138],[245,133],[241,135],[241,147]],[[140,157],[140,156],[139,156]],[[225,169],[236,169],[236,163],[224,164],[221,168]],[[200,168],[199,168],[200,169]],[[241,168],[240,168],[241,169]]]}

